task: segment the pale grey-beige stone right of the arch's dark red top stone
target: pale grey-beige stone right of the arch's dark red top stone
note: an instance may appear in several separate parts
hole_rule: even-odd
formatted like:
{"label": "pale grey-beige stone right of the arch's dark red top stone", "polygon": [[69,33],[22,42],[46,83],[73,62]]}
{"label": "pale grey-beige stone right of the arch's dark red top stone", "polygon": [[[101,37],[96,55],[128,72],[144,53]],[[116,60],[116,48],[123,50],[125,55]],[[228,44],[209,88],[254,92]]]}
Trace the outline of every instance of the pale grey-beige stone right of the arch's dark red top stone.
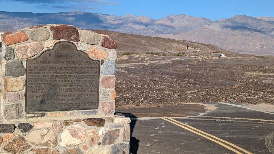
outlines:
{"label": "pale grey-beige stone right of the arch's dark red top stone", "polygon": [[81,35],[80,35],[80,41],[92,45],[98,45],[99,41],[101,39],[101,36],[98,35],[95,32],[88,31],[88,30],[81,30]]}

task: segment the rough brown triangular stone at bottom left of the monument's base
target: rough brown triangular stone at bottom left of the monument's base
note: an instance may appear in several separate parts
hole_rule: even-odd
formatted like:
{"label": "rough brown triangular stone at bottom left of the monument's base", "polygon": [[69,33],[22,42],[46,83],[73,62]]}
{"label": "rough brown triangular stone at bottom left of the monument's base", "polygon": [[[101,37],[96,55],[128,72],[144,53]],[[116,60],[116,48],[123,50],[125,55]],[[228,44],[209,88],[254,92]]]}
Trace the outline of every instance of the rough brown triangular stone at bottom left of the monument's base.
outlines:
{"label": "rough brown triangular stone at bottom left of the monument's base", "polygon": [[12,141],[7,143],[3,149],[8,153],[18,154],[28,150],[29,148],[31,148],[31,146],[24,139],[24,137],[18,135]]}

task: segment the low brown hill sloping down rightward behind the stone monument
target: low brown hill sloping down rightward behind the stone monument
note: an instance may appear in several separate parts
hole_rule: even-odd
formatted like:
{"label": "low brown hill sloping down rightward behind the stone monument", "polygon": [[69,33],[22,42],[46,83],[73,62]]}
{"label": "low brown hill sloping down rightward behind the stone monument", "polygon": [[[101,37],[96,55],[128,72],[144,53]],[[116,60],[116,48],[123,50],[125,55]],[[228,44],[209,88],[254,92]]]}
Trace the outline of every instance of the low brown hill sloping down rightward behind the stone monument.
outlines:
{"label": "low brown hill sloping down rightward behind the stone monument", "polygon": [[125,34],[107,30],[94,31],[97,33],[109,35],[111,38],[113,38],[118,43],[118,54],[122,54],[124,52],[163,52],[168,55],[168,53],[185,52],[187,55],[210,55],[214,51],[230,54],[230,52],[226,52],[221,48],[211,44],[173,40],[169,38]]}

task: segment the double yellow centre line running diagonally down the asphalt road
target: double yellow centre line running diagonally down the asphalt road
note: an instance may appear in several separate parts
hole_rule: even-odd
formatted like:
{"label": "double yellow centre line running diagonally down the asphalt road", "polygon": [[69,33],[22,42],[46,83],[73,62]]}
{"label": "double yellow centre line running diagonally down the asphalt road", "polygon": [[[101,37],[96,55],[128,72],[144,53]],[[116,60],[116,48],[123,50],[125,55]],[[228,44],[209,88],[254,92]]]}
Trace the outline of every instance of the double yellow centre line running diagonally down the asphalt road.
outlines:
{"label": "double yellow centre line running diagonally down the asphalt road", "polygon": [[[223,147],[225,147],[225,148],[227,148],[227,149],[229,149],[229,150],[231,150],[231,151],[233,151],[233,152],[235,152],[235,153],[237,153],[237,154],[243,154],[242,152],[244,152],[244,153],[247,153],[247,154],[252,154],[252,153],[250,153],[249,151],[247,151],[247,150],[245,150],[245,149],[243,149],[243,148],[241,148],[241,147],[239,147],[239,146],[237,146],[237,145],[235,145],[235,144],[232,144],[232,143],[230,143],[230,142],[228,142],[228,141],[225,141],[225,140],[223,140],[223,139],[220,139],[220,138],[218,138],[218,137],[216,137],[216,136],[213,136],[213,135],[211,135],[211,134],[208,134],[208,133],[205,133],[204,131],[202,131],[202,130],[199,130],[199,129],[197,129],[197,128],[194,128],[194,127],[192,127],[192,126],[190,126],[190,125],[186,125],[186,124],[184,124],[184,123],[182,123],[182,122],[179,122],[179,121],[177,121],[177,120],[175,120],[175,119],[172,119],[172,118],[162,118],[162,119],[164,119],[164,120],[166,120],[166,121],[168,121],[168,122],[170,122],[170,123],[172,123],[172,124],[174,124],[174,125],[177,125],[177,126],[179,126],[179,127],[182,127],[182,128],[184,128],[184,129],[186,129],[186,130],[189,130],[189,131],[191,131],[192,133],[195,133],[195,134],[197,134],[197,135],[200,135],[200,136],[203,136],[204,138],[206,138],[206,139],[208,139],[208,140],[210,140],[210,141],[213,141],[213,142],[215,142],[215,143],[217,143],[217,144],[220,144],[220,145],[222,145]],[[228,146],[228,145],[230,145],[230,146]],[[232,148],[232,147],[234,147],[234,148]],[[237,149],[237,150],[236,150]],[[242,151],[242,152],[240,152],[240,151]]]}

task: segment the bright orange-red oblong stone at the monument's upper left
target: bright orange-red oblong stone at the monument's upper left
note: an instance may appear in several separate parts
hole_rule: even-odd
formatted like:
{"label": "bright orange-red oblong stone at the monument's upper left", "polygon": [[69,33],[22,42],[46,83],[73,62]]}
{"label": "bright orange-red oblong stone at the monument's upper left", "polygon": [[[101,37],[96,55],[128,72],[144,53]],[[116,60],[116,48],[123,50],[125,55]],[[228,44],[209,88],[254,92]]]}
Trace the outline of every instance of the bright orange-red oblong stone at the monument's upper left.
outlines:
{"label": "bright orange-red oblong stone at the monument's upper left", "polygon": [[15,44],[15,43],[21,43],[21,42],[25,42],[27,41],[28,35],[25,32],[18,32],[16,34],[11,34],[5,37],[5,45],[9,46],[11,44]]}

